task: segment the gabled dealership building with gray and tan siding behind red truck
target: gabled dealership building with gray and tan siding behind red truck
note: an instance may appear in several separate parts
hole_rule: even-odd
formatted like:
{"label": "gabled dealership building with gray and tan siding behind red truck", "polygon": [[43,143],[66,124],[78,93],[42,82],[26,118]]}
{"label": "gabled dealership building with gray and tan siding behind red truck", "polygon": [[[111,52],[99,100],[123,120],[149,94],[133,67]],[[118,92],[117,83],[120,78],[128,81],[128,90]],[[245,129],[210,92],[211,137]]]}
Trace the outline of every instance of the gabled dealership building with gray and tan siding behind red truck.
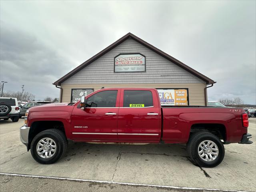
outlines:
{"label": "gabled dealership building with gray and tan siding behind red truck", "polygon": [[54,82],[61,102],[113,87],[157,88],[167,105],[207,103],[214,80],[128,33]]}

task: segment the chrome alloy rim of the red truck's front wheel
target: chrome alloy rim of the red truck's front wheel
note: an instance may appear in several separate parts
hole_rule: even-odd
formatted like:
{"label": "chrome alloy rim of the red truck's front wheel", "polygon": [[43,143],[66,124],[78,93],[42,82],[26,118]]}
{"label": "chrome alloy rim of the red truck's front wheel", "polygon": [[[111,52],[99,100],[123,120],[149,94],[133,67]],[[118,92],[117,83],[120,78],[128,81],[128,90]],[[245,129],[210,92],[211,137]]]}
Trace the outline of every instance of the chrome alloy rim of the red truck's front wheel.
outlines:
{"label": "chrome alloy rim of the red truck's front wheel", "polygon": [[51,158],[56,152],[56,142],[51,138],[42,138],[36,145],[37,154],[44,159]]}

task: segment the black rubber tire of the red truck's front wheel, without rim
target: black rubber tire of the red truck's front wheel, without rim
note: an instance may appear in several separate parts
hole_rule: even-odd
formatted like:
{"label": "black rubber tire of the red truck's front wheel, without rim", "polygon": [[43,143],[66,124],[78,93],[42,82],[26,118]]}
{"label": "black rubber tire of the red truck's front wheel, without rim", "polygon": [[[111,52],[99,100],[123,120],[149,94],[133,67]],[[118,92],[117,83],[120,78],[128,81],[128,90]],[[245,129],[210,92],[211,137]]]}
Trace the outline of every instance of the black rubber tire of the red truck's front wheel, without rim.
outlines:
{"label": "black rubber tire of the red truck's front wheel, without rim", "polygon": [[[56,152],[55,154],[46,159],[40,157],[37,152],[36,152],[36,145],[37,143],[42,139],[42,138],[51,138],[56,142]],[[68,148],[68,142],[66,139],[65,134],[58,130],[58,129],[48,129],[44,130],[40,133],[38,133],[32,140],[31,145],[30,145],[30,152],[34,160],[36,160],[38,163],[41,164],[52,164],[56,161],[58,161],[62,156],[65,154],[66,150]]]}

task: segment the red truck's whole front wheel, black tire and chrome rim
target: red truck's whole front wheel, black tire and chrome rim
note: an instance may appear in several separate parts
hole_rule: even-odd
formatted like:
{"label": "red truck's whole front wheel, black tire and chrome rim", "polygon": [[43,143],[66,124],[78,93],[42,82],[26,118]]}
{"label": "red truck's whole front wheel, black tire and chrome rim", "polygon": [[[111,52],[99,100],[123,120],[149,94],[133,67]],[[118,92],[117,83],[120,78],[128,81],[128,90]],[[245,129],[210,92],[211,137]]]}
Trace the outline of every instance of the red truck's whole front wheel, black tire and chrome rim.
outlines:
{"label": "red truck's whole front wheel, black tire and chrome rim", "polygon": [[65,154],[67,147],[68,142],[62,131],[48,129],[38,133],[33,138],[30,152],[37,162],[52,164]]}

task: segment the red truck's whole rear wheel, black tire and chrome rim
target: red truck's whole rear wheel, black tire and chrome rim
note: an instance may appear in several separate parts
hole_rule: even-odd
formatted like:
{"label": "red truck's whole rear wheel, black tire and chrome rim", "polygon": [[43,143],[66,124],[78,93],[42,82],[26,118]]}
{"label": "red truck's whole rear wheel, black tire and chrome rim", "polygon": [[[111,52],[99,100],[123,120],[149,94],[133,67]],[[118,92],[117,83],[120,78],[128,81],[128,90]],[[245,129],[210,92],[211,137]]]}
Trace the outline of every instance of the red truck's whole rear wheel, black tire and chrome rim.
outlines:
{"label": "red truck's whole rear wheel, black tire and chrome rim", "polygon": [[208,132],[193,134],[188,141],[187,150],[192,161],[200,167],[215,167],[225,155],[221,140]]}

